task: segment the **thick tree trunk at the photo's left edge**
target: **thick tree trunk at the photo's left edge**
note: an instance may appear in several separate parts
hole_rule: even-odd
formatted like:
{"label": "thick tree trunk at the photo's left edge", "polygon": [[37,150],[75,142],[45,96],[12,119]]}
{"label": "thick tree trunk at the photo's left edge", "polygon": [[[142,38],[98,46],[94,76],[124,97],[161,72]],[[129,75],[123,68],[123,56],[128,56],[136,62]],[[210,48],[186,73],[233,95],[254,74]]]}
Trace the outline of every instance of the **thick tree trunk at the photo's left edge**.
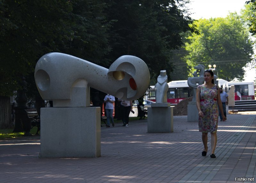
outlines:
{"label": "thick tree trunk at the photo's left edge", "polygon": [[0,96],[0,129],[12,128],[11,98]]}

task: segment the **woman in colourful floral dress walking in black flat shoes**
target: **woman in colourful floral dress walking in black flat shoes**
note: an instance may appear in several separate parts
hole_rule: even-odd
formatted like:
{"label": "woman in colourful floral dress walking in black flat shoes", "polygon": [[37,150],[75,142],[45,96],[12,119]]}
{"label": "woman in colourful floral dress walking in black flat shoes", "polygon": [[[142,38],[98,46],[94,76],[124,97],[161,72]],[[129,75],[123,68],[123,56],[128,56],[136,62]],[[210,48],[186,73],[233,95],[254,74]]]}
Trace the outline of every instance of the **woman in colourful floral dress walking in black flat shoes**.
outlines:
{"label": "woman in colourful floral dress walking in black flat shoes", "polygon": [[[204,71],[204,84],[198,86],[196,89],[196,107],[198,109],[199,115],[198,127],[199,131],[202,132],[202,140],[204,144],[202,156],[206,156],[208,150],[208,132],[210,132],[212,147],[212,153],[210,156],[211,158],[216,158],[214,151],[217,144],[217,128],[219,117],[217,104],[222,116],[224,116],[224,113],[220,100],[219,86],[214,84],[213,77],[214,76],[212,70]],[[225,120],[226,117],[223,118],[223,121]]]}

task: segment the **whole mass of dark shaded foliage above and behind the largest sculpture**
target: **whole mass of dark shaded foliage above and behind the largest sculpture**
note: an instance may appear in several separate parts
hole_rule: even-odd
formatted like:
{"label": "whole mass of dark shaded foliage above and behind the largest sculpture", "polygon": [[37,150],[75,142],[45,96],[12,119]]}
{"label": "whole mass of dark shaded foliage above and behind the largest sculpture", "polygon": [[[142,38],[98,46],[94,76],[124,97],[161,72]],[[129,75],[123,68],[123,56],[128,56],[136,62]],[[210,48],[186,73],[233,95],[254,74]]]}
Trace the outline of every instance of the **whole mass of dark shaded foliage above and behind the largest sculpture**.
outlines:
{"label": "whole mass of dark shaded foliage above and behind the largest sculpture", "polygon": [[12,96],[25,76],[27,95],[35,98],[34,68],[49,52],[70,54],[106,68],[129,54],[144,60],[151,76],[157,77],[163,69],[169,73],[171,51],[183,44],[182,33],[196,32],[187,3],[0,0],[0,96]]}

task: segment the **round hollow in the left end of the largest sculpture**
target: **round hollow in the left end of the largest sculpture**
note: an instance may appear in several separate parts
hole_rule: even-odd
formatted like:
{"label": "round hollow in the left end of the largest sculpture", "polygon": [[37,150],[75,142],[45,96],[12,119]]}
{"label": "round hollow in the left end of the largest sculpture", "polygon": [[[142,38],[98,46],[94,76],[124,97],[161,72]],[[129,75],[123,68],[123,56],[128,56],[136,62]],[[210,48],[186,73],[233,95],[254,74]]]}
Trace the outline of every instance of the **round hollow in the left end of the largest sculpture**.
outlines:
{"label": "round hollow in the left end of the largest sculpture", "polygon": [[36,71],[35,80],[37,87],[42,91],[46,91],[50,86],[50,76],[42,69]]}

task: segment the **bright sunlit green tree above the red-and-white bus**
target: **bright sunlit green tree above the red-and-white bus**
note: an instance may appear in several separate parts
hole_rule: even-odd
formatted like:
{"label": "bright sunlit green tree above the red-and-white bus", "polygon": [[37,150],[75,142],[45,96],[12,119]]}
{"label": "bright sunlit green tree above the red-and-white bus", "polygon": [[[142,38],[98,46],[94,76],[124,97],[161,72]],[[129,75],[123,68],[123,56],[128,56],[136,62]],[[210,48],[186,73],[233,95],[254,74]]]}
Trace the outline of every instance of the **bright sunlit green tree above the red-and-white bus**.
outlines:
{"label": "bright sunlit green tree above the red-and-white bus", "polygon": [[243,67],[251,61],[253,49],[241,17],[230,13],[226,18],[200,19],[195,24],[201,34],[188,37],[188,65],[203,64],[207,68],[216,64],[219,78],[242,80]]}

